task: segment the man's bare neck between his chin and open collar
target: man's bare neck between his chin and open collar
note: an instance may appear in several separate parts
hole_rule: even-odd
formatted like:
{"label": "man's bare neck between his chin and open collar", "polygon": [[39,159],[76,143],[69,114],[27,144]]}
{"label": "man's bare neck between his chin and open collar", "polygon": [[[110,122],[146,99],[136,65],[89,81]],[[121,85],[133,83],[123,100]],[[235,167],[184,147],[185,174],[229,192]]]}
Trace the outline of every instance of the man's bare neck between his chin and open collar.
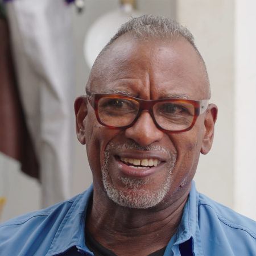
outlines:
{"label": "man's bare neck between his chin and open collar", "polygon": [[165,247],[175,234],[189,190],[190,185],[180,189],[171,201],[157,207],[133,209],[113,203],[105,192],[94,188],[86,228],[117,255],[148,255]]}

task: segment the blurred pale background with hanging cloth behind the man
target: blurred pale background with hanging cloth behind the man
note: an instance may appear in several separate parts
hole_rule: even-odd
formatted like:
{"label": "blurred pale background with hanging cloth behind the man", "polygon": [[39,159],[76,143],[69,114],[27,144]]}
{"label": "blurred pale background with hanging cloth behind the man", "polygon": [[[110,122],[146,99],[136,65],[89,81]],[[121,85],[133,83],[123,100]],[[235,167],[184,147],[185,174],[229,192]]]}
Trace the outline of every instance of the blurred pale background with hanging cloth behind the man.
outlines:
{"label": "blurred pale background with hanging cloth behind the man", "polygon": [[[50,2],[55,4],[51,6]],[[76,195],[92,183],[85,147],[75,135],[73,101],[85,94],[90,65],[104,46],[101,43],[110,39],[119,24],[140,14],[176,19],[195,36],[208,68],[210,102],[217,104],[219,111],[213,148],[200,157],[195,177],[197,190],[255,220],[255,8],[253,0],[5,1],[3,16],[7,17],[9,27],[14,83],[19,93],[24,94],[20,96],[24,119],[32,120],[27,124],[30,138],[22,143],[21,151],[24,153],[31,139],[37,160],[32,162],[34,156],[27,156],[30,168],[35,171],[39,165],[39,171],[21,171],[20,158],[3,147],[6,133],[2,133],[0,222]],[[27,39],[22,38],[22,33],[28,33]],[[0,46],[8,43],[3,38],[6,35],[0,34]],[[3,61],[1,55],[0,58]],[[31,69],[34,75],[30,74]],[[4,77],[3,65],[0,65],[1,77]],[[27,87],[28,78],[34,81],[32,89]],[[46,89],[41,92],[40,88]],[[26,97],[35,100],[26,106]],[[51,99],[56,105],[51,105]],[[38,112],[37,106],[40,106]],[[49,113],[43,112],[43,108],[48,108]],[[33,126],[35,115],[39,121]],[[0,126],[9,119],[9,115],[4,122],[1,118]],[[48,124],[55,122],[49,129]],[[60,144],[56,142],[58,139]],[[24,161],[23,167],[26,167]]]}

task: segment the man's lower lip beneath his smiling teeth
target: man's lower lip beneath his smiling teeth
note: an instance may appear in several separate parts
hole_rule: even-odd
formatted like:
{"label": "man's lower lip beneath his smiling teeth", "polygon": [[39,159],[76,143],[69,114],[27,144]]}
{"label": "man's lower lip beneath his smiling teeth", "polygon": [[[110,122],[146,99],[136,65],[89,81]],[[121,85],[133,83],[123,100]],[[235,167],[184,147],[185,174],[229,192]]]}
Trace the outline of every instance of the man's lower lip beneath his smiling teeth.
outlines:
{"label": "man's lower lip beneath his smiling teeth", "polygon": [[[126,157],[128,156],[126,155]],[[138,156],[137,156],[137,159],[138,159]],[[116,157],[115,157],[115,161],[117,161],[117,167],[118,167],[118,170],[121,172],[121,174],[125,176],[138,177],[138,178],[147,177],[160,171],[163,164],[165,163],[165,162],[161,162],[158,166],[153,166],[150,168],[134,168],[132,166],[128,166],[127,164],[121,162],[121,160]]]}

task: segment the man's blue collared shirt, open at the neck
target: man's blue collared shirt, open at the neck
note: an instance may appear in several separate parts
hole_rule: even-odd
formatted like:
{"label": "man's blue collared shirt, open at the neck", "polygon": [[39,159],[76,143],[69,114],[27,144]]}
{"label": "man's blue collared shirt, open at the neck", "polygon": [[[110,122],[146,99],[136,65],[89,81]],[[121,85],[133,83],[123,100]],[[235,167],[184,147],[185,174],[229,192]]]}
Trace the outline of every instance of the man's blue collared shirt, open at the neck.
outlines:
{"label": "man's blue collared shirt, open at the neck", "polygon": [[[84,232],[92,192],[91,186],[71,200],[1,224],[0,255],[93,255]],[[192,183],[179,228],[164,256],[255,256],[255,232],[255,221],[198,193]]]}

